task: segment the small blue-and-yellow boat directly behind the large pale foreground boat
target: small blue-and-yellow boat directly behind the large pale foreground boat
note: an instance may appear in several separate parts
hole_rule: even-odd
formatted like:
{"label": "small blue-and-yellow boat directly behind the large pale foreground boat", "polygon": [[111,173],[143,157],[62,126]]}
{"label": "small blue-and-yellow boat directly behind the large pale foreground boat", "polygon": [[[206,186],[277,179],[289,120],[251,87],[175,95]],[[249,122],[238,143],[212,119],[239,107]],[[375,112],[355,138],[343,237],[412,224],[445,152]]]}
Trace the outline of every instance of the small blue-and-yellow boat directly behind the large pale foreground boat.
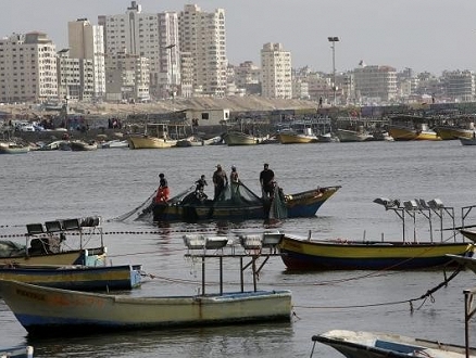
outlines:
{"label": "small blue-and-yellow boat directly behind the large pale foreground boat", "polygon": [[0,280],[75,291],[131,290],[141,284],[140,265],[4,265]]}

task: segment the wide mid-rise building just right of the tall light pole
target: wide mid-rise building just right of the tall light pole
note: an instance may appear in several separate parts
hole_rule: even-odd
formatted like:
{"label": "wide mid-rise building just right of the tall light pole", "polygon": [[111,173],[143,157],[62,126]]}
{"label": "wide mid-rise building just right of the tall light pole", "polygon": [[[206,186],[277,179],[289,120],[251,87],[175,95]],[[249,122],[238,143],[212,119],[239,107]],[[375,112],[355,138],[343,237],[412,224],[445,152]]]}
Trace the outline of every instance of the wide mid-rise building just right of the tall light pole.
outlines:
{"label": "wide mid-rise building just right of the tall light pole", "polygon": [[397,98],[397,69],[390,66],[354,68],[355,95],[373,102],[389,102]]}

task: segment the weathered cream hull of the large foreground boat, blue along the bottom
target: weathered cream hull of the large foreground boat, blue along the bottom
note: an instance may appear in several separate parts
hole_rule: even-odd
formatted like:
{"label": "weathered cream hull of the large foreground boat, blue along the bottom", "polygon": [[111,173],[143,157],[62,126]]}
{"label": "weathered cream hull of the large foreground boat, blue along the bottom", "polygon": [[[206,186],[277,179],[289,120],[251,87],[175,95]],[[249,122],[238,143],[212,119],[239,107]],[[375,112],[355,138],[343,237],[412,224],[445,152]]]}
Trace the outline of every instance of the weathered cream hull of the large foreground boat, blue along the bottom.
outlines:
{"label": "weathered cream hull of the large foreground boat, blue along the bottom", "polygon": [[0,294],[34,335],[290,320],[289,291],[131,297],[0,281]]}

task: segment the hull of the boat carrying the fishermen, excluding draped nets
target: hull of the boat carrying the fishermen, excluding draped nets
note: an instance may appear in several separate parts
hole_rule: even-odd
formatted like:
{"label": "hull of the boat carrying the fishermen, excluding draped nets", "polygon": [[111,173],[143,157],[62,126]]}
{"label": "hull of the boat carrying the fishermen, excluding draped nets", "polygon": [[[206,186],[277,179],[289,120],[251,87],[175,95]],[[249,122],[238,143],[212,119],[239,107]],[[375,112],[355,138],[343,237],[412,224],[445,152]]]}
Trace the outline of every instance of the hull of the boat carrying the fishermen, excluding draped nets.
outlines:
{"label": "hull of the boat carrying the fishermen, excluding draped nets", "polygon": [[[312,217],[320,207],[333,196],[340,187],[325,187],[301,193],[285,195],[288,218]],[[203,204],[155,204],[153,206],[154,221],[188,221],[202,220],[258,220],[267,219],[268,205],[229,205],[214,206],[213,201]]]}

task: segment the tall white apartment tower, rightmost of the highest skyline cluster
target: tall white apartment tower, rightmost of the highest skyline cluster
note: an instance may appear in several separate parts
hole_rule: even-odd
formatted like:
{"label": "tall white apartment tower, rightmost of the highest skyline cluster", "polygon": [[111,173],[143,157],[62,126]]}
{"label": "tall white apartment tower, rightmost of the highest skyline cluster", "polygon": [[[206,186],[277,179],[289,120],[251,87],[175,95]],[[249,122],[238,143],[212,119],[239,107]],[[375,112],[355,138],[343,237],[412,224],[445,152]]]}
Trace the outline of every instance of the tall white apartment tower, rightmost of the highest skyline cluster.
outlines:
{"label": "tall white apartment tower, rightmost of the highest skyline cluster", "polygon": [[224,97],[227,88],[225,10],[203,12],[187,4],[179,14],[180,51],[193,60],[193,91]]}

